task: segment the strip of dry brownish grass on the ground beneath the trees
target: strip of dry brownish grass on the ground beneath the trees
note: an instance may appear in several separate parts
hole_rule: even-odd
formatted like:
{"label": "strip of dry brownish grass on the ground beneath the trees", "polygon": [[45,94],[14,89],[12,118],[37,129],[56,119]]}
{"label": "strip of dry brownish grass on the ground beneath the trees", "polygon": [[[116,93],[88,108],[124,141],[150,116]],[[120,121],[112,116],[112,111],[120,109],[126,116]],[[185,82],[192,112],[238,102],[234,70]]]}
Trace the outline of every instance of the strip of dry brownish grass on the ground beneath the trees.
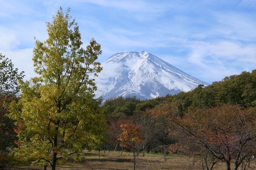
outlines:
{"label": "strip of dry brownish grass on the ground beneath the trees", "polygon": [[[98,152],[84,152],[84,160],[80,163],[74,163],[72,159],[68,160],[70,166],[57,167],[56,170],[133,170],[133,154],[124,152],[121,156],[120,152],[102,153],[100,158]],[[136,164],[136,170],[200,170],[202,162],[198,158],[193,164],[193,158],[181,155],[167,156],[165,162],[164,157],[160,154],[146,154],[142,157],[139,155],[139,160]],[[35,170],[33,166],[15,166],[7,167],[6,170]],[[51,169],[49,166],[48,170]],[[250,162],[250,168],[256,169],[256,162],[253,159]],[[218,162],[214,165],[214,170],[226,170],[224,162]]]}

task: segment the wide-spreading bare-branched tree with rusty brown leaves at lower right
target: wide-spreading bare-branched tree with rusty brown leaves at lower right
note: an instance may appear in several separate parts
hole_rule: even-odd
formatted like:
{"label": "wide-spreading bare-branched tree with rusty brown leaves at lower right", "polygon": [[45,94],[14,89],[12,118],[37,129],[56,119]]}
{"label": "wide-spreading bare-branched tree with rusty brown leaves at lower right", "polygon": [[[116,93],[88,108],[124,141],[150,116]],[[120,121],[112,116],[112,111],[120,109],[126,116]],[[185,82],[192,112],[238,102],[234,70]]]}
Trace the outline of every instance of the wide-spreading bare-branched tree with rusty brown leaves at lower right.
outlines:
{"label": "wide-spreading bare-branched tree with rusty brown leaves at lower right", "polygon": [[182,118],[172,117],[180,130],[186,134],[177,143],[183,153],[224,160],[227,170],[246,164],[256,154],[256,110],[238,105],[223,105],[211,109],[190,107]]}

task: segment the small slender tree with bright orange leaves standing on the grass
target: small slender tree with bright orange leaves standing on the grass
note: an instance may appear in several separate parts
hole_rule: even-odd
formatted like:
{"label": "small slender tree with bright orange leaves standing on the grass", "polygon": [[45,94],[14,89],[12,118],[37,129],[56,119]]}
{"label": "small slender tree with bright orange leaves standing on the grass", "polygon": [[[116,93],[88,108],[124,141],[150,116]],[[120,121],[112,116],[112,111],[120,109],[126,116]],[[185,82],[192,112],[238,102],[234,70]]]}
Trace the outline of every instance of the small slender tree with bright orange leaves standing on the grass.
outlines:
{"label": "small slender tree with bright orange leaves standing on the grass", "polygon": [[140,134],[140,125],[135,126],[127,123],[122,124],[120,127],[122,128],[122,133],[118,137],[118,140],[121,141],[120,146],[132,149],[135,170],[136,156],[140,151],[140,144],[142,143],[142,140],[144,140]]}

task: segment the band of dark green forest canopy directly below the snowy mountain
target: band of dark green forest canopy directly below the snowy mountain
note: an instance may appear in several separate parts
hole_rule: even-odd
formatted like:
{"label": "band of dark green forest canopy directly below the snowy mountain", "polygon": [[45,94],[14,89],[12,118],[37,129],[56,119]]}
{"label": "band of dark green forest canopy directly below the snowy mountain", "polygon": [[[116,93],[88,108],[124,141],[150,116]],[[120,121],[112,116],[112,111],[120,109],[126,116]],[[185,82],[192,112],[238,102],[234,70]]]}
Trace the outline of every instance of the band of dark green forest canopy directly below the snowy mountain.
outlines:
{"label": "band of dark green forest canopy directly below the snowy mountain", "polygon": [[240,75],[225,77],[222,81],[215,81],[206,87],[198,85],[194,90],[177,95],[167,94],[165,97],[149,100],[140,100],[136,96],[107,99],[102,109],[106,117],[121,118],[142,113],[146,109],[152,109],[166,102],[175,105],[181,114],[186,113],[190,106],[202,109],[225,103],[246,108],[255,107],[256,70],[251,73],[243,71]]}

